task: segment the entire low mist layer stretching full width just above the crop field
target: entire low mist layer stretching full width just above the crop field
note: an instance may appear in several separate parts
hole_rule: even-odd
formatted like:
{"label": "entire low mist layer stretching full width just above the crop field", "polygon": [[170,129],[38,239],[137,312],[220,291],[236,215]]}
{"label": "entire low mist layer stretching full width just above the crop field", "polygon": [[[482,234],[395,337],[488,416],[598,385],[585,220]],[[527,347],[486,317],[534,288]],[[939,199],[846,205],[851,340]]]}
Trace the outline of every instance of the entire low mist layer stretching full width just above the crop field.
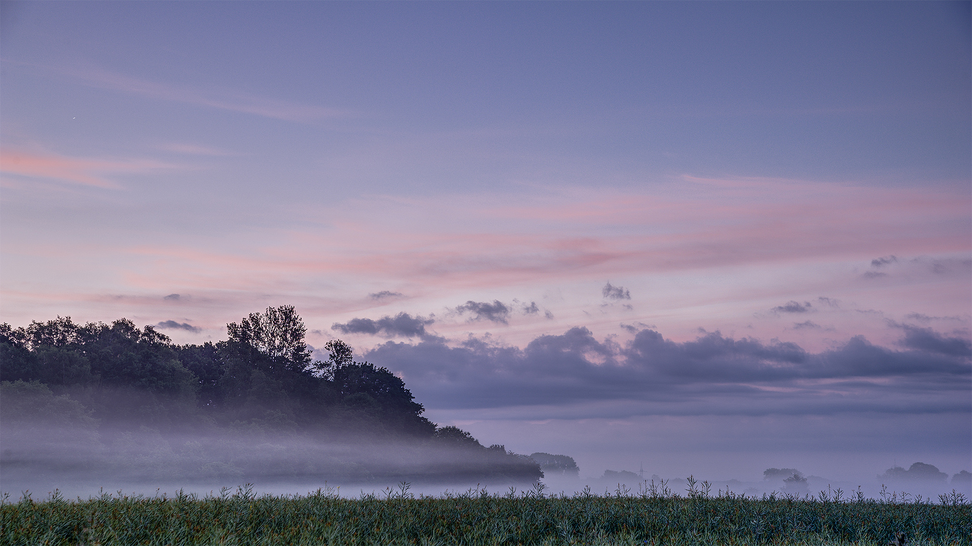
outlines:
{"label": "entire low mist layer stretching full width just above the crop field", "polygon": [[[605,469],[581,473],[569,456],[508,454],[502,446],[470,450],[416,439],[343,438],[321,440],[264,430],[162,433],[149,427],[55,426],[5,422],[0,427],[0,491],[42,498],[59,490],[68,498],[101,492],[207,495],[250,484],[259,494],[305,495],[331,488],[342,496],[397,490],[415,495],[482,491],[505,493],[541,487],[568,495],[585,490],[598,495],[639,495],[655,488],[663,495],[843,495],[870,498],[932,499],[954,490],[972,496],[972,473],[953,476],[916,462],[883,475],[835,480],[796,468],[768,468],[762,479],[711,480],[700,468],[693,476]],[[538,481],[522,462],[543,469]],[[595,473],[596,474],[596,473]],[[694,481],[694,483],[693,483]]]}

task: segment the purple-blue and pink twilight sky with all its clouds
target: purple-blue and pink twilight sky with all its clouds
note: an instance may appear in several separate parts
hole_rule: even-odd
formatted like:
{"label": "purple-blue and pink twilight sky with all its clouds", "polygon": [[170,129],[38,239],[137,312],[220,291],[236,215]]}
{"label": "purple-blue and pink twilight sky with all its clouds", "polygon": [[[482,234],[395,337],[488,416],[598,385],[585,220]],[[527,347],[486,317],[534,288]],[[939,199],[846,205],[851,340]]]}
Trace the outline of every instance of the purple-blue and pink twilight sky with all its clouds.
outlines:
{"label": "purple-blue and pink twilight sky with all its clouds", "polygon": [[295,305],[605,469],[972,470],[969,2],[3,2],[0,322]]}

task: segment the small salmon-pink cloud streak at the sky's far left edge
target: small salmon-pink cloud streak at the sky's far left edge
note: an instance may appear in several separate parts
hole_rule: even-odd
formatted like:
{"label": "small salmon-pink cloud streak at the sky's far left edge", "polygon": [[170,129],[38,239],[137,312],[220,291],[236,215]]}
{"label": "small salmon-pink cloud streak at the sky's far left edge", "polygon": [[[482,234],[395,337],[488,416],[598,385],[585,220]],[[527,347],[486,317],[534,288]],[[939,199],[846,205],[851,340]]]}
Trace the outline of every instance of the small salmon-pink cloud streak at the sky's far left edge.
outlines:
{"label": "small salmon-pink cloud streak at the sky's far left edge", "polygon": [[0,171],[5,173],[95,188],[121,188],[117,182],[106,178],[107,173],[140,173],[173,167],[176,165],[153,159],[91,159],[38,152],[0,152]]}

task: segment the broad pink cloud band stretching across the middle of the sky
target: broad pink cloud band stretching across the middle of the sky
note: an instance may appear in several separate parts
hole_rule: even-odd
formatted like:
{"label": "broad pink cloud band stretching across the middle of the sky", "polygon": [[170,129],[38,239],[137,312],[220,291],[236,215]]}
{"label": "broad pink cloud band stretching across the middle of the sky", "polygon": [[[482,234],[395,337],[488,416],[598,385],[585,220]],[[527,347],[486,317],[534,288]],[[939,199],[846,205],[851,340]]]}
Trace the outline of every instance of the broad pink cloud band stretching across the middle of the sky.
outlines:
{"label": "broad pink cloud band stretching across the middle of the sky", "polygon": [[[102,241],[97,248],[65,245],[44,252],[60,260],[97,256],[91,271],[103,262],[106,271],[110,269],[121,281],[111,286],[113,292],[183,292],[200,298],[206,294],[210,302],[226,300],[225,309],[232,309],[231,313],[247,311],[248,305],[252,311],[264,302],[294,302],[322,317],[366,308],[371,303],[362,303],[365,293],[390,288],[412,296],[409,305],[421,306],[469,290],[542,290],[538,287],[584,280],[603,285],[604,279],[617,276],[661,279],[673,274],[717,275],[719,286],[732,290],[693,293],[694,289],[684,289],[689,291],[656,294],[657,302],[671,297],[682,307],[707,306],[708,313],[713,312],[712,306],[746,309],[746,317],[751,317],[750,301],[770,293],[759,279],[746,278],[754,273],[782,286],[793,271],[838,264],[835,272],[825,273],[826,279],[810,274],[792,279],[791,289],[811,290],[807,279],[815,287],[843,287],[864,282],[858,279],[860,272],[847,269],[849,261],[866,268],[875,256],[969,252],[965,195],[775,181],[729,180],[701,187],[709,189],[663,197],[577,192],[542,198],[362,199],[327,210],[311,205],[291,208],[302,227],[263,231],[259,242],[251,233],[239,239],[172,239],[124,246]],[[750,191],[755,197],[746,194]],[[746,195],[739,197],[739,193]],[[16,247],[8,245],[8,253]],[[16,250],[30,256],[41,252]],[[723,278],[725,268],[746,268],[746,273]],[[87,290],[83,279],[78,283],[77,290]],[[104,293],[106,287],[94,283],[89,293]],[[934,302],[955,300],[955,293],[948,297],[939,293],[954,292],[955,283],[948,283],[921,289],[935,292],[920,297],[932,308],[911,305],[906,311],[937,312]],[[894,292],[900,289],[890,285],[886,289],[877,282],[867,286],[875,297],[885,294],[882,300],[901,299]],[[843,292],[820,293],[844,297]],[[143,305],[141,301],[129,303]],[[760,303],[757,309],[781,301]],[[151,303],[144,305],[151,307]],[[732,315],[728,310],[719,312]],[[226,320],[236,318],[231,313]],[[209,319],[214,324],[219,320]],[[608,327],[616,321],[593,317],[589,324]],[[693,322],[692,327],[696,325]]]}

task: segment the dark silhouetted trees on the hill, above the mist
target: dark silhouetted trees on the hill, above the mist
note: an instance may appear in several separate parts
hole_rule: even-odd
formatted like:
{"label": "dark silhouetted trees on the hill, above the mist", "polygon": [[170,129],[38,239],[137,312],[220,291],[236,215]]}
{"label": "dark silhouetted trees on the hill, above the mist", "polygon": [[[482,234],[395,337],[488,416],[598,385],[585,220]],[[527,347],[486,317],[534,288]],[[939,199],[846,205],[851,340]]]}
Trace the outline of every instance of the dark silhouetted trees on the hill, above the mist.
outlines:
{"label": "dark silhouetted trees on the hill, above the mist", "polygon": [[542,476],[527,457],[484,447],[457,427],[437,427],[399,377],[356,360],[344,342],[330,341],[329,358],[314,360],[293,306],[250,314],[226,330],[226,341],[175,345],[153,326],[127,319],[0,324],[4,425],[37,413],[28,408],[47,392],[65,397],[48,413],[74,412],[75,421],[106,431],[405,441],[427,451],[465,450],[469,461],[482,462],[480,474],[503,467],[519,478]]}

